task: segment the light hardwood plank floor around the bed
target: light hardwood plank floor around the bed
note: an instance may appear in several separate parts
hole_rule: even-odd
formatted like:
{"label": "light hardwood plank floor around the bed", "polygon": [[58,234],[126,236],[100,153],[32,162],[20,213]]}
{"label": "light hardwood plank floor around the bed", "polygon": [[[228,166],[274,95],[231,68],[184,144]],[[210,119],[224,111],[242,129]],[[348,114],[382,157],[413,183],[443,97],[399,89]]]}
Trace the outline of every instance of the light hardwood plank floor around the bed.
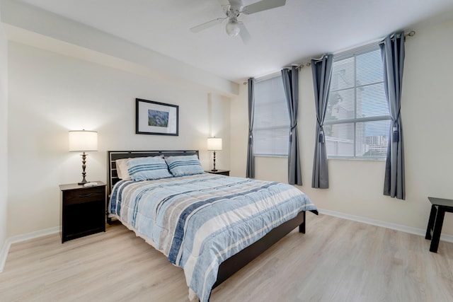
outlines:
{"label": "light hardwood plank floor around the bed", "polygon": [[[217,301],[453,301],[453,243],[437,254],[421,236],[307,214],[226,280]],[[62,244],[58,234],[16,243],[0,301],[188,301],[183,270],[119,223]]]}

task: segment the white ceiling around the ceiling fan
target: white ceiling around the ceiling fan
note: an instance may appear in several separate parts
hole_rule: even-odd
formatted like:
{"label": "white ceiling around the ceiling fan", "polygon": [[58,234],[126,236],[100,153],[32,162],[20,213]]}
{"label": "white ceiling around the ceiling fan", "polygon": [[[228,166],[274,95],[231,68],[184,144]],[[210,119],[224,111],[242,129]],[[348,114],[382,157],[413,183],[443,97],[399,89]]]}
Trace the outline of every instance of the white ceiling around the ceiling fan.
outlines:
{"label": "white ceiling around the ceiling fan", "polygon": [[287,0],[239,17],[252,37],[245,45],[226,35],[226,21],[190,32],[224,17],[217,0],[21,1],[238,83],[397,30],[416,30],[420,23],[453,19],[453,0]]}

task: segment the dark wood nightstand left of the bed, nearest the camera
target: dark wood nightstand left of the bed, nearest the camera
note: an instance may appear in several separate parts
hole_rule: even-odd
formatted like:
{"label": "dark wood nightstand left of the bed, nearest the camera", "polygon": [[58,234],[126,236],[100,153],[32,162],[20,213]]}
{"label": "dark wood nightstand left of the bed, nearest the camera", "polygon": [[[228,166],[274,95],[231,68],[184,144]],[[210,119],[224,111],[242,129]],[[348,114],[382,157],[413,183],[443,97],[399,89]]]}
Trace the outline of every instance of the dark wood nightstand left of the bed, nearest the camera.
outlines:
{"label": "dark wood nightstand left of the bed, nearest the camera", "polygon": [[105,232],[105,183],[60,185],[60,233],[67,240]]}

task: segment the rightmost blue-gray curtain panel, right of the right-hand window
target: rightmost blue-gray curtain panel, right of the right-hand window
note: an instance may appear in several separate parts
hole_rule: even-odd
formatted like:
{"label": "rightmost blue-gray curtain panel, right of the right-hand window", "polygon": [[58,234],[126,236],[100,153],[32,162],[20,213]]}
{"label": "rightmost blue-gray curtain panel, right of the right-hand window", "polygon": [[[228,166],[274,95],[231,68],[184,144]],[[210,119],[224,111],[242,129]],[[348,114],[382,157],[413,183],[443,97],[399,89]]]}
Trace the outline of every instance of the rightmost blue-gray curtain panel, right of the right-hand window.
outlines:
{"label": "rightmost blue-gray curtain panel, right of the right-hand window", "polygon": [[384,62],[384,86],[391,125],[384,177],[384,195],[406,198],[404,175],[403,125],[401,122],[401,88],[403,86],[404,32],[389,35],[380,44]]}

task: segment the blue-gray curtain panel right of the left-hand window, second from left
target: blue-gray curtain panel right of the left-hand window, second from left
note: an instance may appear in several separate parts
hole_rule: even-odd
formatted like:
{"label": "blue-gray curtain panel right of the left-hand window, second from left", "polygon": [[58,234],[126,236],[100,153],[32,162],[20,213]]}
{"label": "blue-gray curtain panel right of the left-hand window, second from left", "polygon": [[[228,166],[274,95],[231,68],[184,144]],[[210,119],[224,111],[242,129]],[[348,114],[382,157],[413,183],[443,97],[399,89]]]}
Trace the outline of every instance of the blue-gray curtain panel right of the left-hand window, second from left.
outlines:
{"label": "blue-gray curtain panel right of the left-hand window, second from left", "polygon": [[299,108],[299,71],[296,66],[282,69],[283,88],[289,112],[288,183],[302,185],[302,171],[297,134],[297,112]]}

